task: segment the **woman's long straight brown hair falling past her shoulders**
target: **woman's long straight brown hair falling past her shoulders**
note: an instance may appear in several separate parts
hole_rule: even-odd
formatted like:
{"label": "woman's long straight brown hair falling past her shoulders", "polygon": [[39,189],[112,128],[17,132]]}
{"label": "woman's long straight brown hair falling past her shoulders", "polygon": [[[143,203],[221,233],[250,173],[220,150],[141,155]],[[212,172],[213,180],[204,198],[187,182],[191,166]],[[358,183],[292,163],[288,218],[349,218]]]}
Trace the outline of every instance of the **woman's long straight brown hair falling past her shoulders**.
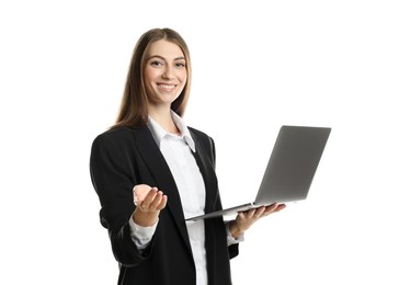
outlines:
{"label": "woman's long straight brown hair falling past her shoulders", "polygon": [[121,110],[113,127],[118,126],[142,126],[148,121],[148,95],[142,79],[145,55],[148,46],[159,39],[167,39],[176,44],[185,57],[187,80],[182,93],[173,101],[171,109],[180,116],[184,114],[191,88],[191,59],[189,47],[183,37],[171,29],[152,29],[144,33],[138,39],[127,73],[125,91],[122,99]]}

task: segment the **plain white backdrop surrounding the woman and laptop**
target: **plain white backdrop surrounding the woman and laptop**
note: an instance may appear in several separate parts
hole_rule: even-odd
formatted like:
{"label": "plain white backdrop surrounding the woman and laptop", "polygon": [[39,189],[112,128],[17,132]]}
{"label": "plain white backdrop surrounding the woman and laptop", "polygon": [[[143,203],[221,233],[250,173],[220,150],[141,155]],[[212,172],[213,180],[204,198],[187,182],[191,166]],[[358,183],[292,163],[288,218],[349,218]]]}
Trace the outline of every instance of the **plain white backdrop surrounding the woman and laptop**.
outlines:
{"label": "plain white backdrop surrounding the woman and laptop", "polygon": [[1,1],[1,284],[116,284],[89,174],[139,35],[191,48],[185,121],[250,202],[283,124],[332,133],[308,200],[259,221],[233,284],[398,284],[397,1]]}

